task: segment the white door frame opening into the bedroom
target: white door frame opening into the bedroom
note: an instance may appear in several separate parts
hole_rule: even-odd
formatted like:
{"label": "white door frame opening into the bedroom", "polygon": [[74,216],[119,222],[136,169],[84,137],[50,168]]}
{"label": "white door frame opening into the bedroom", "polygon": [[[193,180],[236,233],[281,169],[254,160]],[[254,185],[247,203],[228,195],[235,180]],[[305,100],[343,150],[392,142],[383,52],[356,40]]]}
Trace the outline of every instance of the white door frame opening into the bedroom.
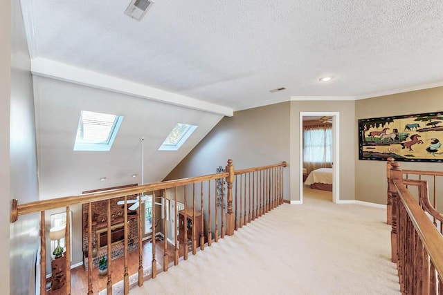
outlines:
{"label": "white door frame opening into the bedroom", "polygon": [[340,179],[340,134],[338,126],[340,126],[339,112],[300,112],[300,203],[303,203],[303,117],[307,116],[330,116],[332,117],[332,202],[340,202],[340,187],[338,180]]}

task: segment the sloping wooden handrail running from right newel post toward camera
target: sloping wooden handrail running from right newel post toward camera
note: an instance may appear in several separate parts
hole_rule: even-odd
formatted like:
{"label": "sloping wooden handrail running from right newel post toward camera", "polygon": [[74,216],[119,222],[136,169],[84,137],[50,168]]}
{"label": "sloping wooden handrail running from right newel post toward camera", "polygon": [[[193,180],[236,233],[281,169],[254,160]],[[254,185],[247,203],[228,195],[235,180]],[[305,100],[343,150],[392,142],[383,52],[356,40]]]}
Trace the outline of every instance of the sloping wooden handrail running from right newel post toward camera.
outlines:
{"label": "sloping wooden handrail running from right newel post toward camera", "polygon": [[443,275],[443,237],[437,231],[437,229],[429,220],[426,213],[422,210],[420,205],[414,200],[413,196],[410,194],[403,180],[393,180],[395,187],[397,188],[397,193],[399,200],[403,202],[408,216],[413,222],[415,230],[423,242],[428,255],[431,257],[431,261],[435,269],[440,276]]}

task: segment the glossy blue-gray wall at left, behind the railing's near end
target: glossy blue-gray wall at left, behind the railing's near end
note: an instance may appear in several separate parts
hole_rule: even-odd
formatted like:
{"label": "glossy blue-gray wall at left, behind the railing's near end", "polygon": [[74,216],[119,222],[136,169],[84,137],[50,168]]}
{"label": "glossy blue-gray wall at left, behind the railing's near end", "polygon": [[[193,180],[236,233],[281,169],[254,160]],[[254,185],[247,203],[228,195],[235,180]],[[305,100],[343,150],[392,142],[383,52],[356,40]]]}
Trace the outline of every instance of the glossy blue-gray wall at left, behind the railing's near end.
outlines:
{"label": "glossy blue-gray wall at left, behind the railing's near end", "polygon": [[[19,203],[26,203],[38,200],[33,82],[20,2],[12,1],[11,9],[10,198],[8,200],[16,198]],[[10,204],[6,209],[9,211]],[[9,216],[9,213],[6,216]],[[28,294],[30,289],[32,290],[34,278],[31,278],[31,273],[39,245],[38,229],[38,213],[20,216],[17,222],[10,225],[10,294]]]}

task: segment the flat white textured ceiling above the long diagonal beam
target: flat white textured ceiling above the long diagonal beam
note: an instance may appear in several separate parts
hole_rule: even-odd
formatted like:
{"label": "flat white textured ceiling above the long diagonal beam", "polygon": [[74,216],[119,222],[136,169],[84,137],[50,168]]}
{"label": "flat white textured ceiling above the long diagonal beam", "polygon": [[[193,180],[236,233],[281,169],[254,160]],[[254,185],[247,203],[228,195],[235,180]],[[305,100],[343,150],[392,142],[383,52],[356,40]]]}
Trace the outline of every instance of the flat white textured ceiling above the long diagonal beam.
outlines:
{"label": "flat white textured ceiling above the long diagonal beam", "polygon": [[441,0],[158,0],[141,22],[129,0],[22,2],[33,58],[234,110],[443,81]]}

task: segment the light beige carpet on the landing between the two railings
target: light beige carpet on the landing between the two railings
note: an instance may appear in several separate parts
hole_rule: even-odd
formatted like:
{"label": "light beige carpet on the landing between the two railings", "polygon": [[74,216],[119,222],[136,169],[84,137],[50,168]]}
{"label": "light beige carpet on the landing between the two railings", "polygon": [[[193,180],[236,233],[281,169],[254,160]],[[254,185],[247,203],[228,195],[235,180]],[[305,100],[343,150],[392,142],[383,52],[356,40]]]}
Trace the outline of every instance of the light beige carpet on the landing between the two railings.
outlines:
{"label": "light beige carpet on the landing between the two railings", "polygon": [[130,294],[399,294],[386,210],[307,191]]}

